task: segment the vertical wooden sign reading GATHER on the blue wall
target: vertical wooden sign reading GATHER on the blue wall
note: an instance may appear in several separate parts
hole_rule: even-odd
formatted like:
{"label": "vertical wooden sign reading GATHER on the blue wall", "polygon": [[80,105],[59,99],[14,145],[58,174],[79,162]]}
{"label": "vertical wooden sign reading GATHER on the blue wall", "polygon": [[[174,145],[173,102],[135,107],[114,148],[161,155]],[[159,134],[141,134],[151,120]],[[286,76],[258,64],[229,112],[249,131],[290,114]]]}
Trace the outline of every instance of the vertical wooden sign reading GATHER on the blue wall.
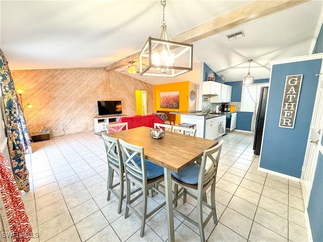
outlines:
{"label": "vertical wooden sign reading GATHER on the blue wall", "polygon": [[286,77],[279,127],[294,129],[298,99],[301,91],[303,75]]}

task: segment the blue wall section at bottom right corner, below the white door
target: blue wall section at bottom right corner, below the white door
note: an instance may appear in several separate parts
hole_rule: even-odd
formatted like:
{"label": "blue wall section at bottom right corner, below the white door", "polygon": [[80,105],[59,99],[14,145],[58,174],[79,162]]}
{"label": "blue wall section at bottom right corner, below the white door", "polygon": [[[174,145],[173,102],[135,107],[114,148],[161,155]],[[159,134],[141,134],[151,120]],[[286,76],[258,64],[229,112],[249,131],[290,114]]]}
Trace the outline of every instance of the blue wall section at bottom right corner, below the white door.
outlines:
{"label": "blue wall section at bottom right corner, below the white door", "polygon": [[314,242],[323,241],[323,155],[318,153],[307,213]]}

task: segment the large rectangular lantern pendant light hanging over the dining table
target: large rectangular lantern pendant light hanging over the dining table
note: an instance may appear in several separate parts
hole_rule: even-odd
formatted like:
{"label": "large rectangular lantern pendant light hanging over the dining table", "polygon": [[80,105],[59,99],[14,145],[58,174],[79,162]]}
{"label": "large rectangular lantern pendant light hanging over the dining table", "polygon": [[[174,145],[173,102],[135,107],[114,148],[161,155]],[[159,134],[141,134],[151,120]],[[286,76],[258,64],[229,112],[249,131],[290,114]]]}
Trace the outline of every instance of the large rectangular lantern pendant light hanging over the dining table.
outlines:
{"label": "large rectangular lantern pendant light hanging over the dining table", "polygon": [[139,54],[140,75],[156,77],[176,77],[192,71],[193,45],[172,41],[166,31],[166,0],[163,6],[163,20],[159,39],[149,36]]}

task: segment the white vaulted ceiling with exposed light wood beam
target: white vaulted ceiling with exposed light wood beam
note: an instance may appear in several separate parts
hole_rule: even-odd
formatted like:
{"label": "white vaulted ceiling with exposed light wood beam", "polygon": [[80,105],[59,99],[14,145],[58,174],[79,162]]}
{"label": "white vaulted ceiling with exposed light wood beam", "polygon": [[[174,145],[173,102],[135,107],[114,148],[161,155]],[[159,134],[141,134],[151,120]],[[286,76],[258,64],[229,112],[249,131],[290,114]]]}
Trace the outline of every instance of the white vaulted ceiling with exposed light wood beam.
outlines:
{"label": "white vaulted ceiling with exposed light wood beam", "polygon": [[[268,9],[273,3],[289,6],[259,16],[259,2],[267,2]],[[177,78],[134,77],[151,84],[198,84],[200,75],[194,70],[204,62],[227,81],[240,81],[252,58],[251,75],[269,78],[269,61],[311,53],[322,24],[322,3],[168,0],[168,34],[174,40],[192,41],[193,71]],[[1,48],[11,70],[106,67],[128,74],[127,62],[137,60],[148,36],[159,37],[163,14],[157,0],[1,1],[0,8]],[[212,33],[206,26],[209,21]],[[197,32],[203,31],[201,26],[204,33]],[[226,35],[241,30],[245,37],[228,41]]]}

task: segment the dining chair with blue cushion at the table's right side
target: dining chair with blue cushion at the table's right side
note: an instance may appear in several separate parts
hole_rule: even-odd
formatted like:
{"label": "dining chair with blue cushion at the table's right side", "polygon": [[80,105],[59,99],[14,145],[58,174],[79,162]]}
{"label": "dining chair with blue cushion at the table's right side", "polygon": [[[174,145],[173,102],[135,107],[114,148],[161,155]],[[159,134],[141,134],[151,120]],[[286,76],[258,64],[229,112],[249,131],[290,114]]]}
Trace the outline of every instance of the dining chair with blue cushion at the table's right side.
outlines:
{"label": "dining chair with blue cushion at the table's right side", "polygon": [[[192,163],[179,173],[172,171],[172,182],[174,186],[174,213],[180,215],[199,229],[200,240],[205,241],[204,228],[208,221],[213,217],[214,224],[218,224],[216,210],[216,180],[218,163],[223,140],[217,146],[204,150],[201,164]],[[211,164],[206,168],[207,160]],[[208,164],[207,164],[208,165]],[[178,190],[178,186],[182,187]],[[210,189],[210,204],[207,203],[206,191]],[[176,202],[183,196],[183,202],[186,202],[187,195],[197,200],[197,222],[187,215],[183,214],[178,208]],[[203,205],[210,209],[209,214],[203,221]]]}

